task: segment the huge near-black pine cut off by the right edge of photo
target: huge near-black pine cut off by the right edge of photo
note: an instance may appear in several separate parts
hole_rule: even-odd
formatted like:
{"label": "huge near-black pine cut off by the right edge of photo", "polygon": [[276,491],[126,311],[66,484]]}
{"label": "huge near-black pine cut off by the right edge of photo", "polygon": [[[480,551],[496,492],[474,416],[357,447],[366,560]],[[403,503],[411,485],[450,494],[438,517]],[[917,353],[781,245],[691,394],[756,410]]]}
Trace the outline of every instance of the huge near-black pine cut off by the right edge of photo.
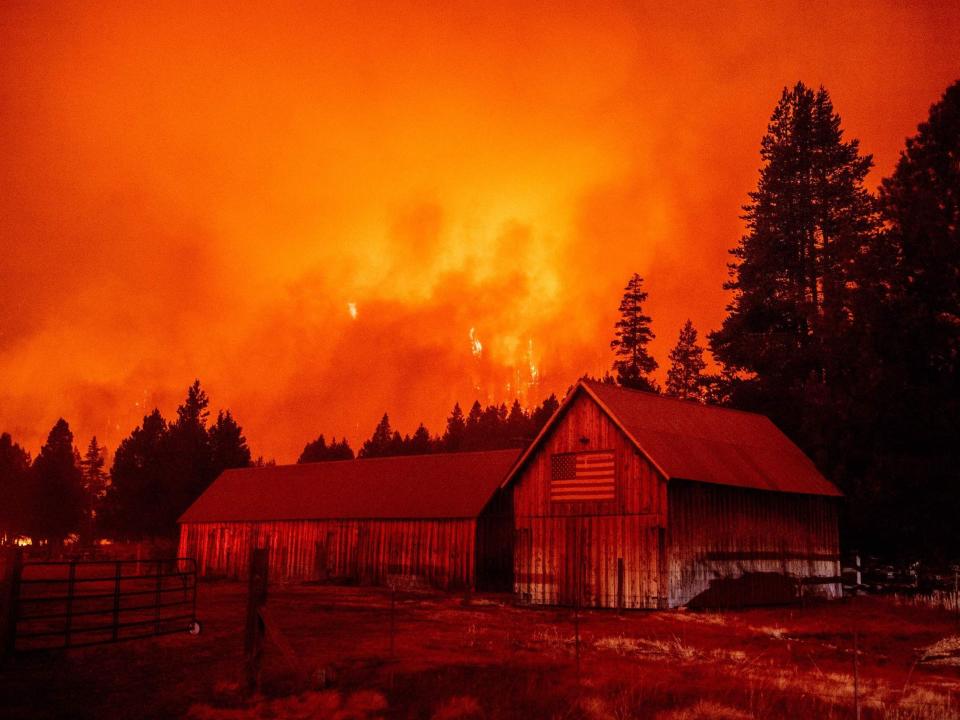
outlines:
{"label": "huge near-black pine cut off by the right edge of photo", "polygon": [[[960,81],[906,142],[880,187],[879,253],[858,278],[874,354],[856,385],[866,398],[855,481],[857,541],[925,556],[960,555]],[[865,266],[865,267],[864,267]],[[865,418],[865,419],[864,419]],[[852,505],[852,503],[851,503]],[[895,528],[896,532],[891,532]]]}

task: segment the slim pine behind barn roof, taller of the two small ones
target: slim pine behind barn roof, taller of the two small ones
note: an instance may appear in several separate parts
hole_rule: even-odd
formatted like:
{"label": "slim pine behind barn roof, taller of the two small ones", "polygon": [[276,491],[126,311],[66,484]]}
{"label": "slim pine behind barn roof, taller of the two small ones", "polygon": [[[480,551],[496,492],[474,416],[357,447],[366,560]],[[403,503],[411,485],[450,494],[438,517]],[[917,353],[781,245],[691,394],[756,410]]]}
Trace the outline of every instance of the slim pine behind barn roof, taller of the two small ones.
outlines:
{"label": "slim pine behind barn roof, taller of the two small ones", "polygon": [[643,312],[646,300],[643,278],[634,273],[620,301],[620,319],[616,322],[610,348],[617,358],[613,369],[620,385],[655,392],[657,386],[650,374],[657,369],[657,361],[647,351],[647,344],[655,336],[650,329],[651,318]]}

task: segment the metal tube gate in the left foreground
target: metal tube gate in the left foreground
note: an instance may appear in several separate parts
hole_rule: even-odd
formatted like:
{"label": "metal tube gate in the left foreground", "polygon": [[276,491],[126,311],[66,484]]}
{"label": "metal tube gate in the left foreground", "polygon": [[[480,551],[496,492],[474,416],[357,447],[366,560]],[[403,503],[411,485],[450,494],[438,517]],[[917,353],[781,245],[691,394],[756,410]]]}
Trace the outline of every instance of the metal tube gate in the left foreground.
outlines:
{"label": "metal tube gate in the left foreground", "polygon": [[8,651],[200,632],[193,558],[16,562]]}

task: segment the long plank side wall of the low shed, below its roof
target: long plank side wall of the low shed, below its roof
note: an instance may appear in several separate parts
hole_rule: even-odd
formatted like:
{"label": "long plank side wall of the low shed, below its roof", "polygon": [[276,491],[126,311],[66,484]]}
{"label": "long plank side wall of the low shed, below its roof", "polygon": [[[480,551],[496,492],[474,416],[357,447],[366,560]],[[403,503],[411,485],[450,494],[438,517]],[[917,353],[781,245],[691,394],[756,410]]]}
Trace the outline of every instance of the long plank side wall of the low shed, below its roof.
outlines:
{"label": "long plank side wall of the low shed, below its roof", "polygon": [[444,589],[473,587],[474,520],[291,520],[183,524],[180,555],[201,576],[242,578],[254,546],[269,546],[270,577],[384,584],[388,575]]}

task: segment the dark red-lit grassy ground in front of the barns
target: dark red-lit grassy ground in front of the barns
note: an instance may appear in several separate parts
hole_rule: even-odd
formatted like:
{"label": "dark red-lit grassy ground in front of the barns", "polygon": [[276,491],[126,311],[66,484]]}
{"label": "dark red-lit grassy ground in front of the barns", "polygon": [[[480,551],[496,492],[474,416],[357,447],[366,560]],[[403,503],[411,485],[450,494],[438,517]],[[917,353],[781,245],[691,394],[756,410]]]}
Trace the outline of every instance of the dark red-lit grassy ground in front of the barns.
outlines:
{"label": "dark red-lit grassy ground in front of the barns", "polygon": [[960,718],[956,618],[876,598],[577,622],[508,598],[408,595],[391,622],[382,590],[277,587],[280,643],[253,696],[240,686],[245,599],[239,584],[203,584],[199,636],[16,657],[0,670],[0,716],[852,718],[856,633],[864,718]]}

